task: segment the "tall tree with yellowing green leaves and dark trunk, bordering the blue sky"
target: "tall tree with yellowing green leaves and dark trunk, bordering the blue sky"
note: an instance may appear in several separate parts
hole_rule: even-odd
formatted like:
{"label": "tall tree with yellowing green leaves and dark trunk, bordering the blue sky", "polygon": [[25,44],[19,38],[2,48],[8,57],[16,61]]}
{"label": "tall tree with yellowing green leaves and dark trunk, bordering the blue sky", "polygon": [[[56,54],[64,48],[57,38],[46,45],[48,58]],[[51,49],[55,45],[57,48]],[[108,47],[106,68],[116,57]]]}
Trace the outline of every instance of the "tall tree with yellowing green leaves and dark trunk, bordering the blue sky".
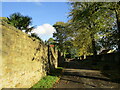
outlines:
{"label": "tall tree with yellowing green leaves and dark trunk, bordering the blue sky", "polygon": [[[97,54],[97,38],[100,32],[112,30],[115,14],[109,9],[103,9],[107,3],[102,2],[72,2],[70,12],[71,32],[74,42],[83,54]],[[97,38],[96,38],[97,37]],[[92,46],[92,47],[91,47]]]}

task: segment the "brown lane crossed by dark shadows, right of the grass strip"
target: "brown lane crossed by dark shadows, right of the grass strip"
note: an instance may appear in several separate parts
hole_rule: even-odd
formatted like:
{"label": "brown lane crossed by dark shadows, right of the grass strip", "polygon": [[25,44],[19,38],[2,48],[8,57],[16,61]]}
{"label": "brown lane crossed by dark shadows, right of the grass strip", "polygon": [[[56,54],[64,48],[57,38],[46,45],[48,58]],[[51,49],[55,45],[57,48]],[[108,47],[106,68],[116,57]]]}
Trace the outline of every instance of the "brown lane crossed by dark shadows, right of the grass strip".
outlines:
{"label": "brown lane crossed by dark shadows, right of the grass strip", "polygon": [[[119,88],[120,83],[113,82],[99,70],[86,68],[78,61],[67,62],[63,75],[53,88]],[[118,90],[118,89],[117,89]]]}

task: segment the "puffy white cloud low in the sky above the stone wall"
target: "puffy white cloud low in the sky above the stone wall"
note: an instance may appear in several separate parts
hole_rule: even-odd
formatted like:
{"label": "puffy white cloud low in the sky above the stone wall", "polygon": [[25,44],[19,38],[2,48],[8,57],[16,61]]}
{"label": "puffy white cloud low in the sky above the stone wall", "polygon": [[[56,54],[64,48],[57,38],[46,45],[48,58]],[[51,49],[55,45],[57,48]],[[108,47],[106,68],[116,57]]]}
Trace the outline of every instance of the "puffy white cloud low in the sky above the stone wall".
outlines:
{"label": "puffy white cloud low in the sky above the stone wall", "polygon": [[53,36],[55,32],[55,28],[50,24],[43,24],[41,26],[37,26],[32,33],[37,34],[41,39],[48,40],[50,37]]}

